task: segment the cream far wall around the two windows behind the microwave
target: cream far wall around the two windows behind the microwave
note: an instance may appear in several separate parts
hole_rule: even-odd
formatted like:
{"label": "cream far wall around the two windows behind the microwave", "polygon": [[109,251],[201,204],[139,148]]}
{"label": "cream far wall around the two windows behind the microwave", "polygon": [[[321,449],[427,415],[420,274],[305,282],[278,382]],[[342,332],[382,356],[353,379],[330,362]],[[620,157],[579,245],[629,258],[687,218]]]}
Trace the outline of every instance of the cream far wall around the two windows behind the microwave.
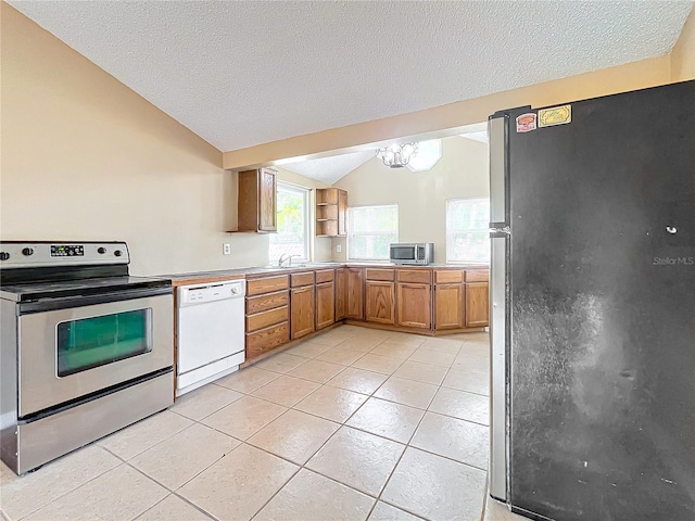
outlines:
{"label": "cream far wall around the two windows behind the microwave", "polygon": [[[433,242],[434,262],[446,262],[446,200],[489,194],[488,145],[470,139],[442,140],[442,158],[428,171],[388,168],[374,157],[340,179],[348,204],[399,204],[399,241]],[[336,253],[337,245],[342,253]],[[333,239],[333,259],[344,260],[344,239]]]}

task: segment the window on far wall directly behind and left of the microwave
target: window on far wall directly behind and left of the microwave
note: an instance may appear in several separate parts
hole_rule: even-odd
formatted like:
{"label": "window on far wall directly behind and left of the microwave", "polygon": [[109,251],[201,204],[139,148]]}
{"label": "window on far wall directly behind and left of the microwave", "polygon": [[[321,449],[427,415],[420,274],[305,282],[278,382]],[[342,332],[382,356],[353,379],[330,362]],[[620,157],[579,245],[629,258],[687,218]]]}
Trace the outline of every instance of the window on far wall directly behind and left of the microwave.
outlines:
{"label": "window on far wall directly behind and left of the microwave", "polygon": [[349,209],[348,258],[388,260],[389,244],[399,242],[399,205]]}

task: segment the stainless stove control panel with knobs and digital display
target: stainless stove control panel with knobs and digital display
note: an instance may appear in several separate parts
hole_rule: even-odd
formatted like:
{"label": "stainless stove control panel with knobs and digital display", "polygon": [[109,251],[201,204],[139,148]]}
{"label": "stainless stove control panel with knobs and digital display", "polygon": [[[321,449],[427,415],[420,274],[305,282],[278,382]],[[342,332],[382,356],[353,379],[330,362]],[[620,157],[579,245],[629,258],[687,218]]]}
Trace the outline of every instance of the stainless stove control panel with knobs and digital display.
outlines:
{"label": "stainless stove control panel with knobs and digital display", "polygon": [[128,264],[125,242],[18,242],[0,243],[1,268],[41,266],[93,266]]}

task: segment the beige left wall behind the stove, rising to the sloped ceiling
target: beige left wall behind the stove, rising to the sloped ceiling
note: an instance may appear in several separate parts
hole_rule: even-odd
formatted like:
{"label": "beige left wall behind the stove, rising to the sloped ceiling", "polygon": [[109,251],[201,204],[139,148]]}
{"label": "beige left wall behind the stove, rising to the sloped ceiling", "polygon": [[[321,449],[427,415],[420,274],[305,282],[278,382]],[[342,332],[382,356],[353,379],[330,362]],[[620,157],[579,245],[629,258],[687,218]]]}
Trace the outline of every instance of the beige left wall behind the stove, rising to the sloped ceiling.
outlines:
{"label": "beige left wall behind the stove, rising to the sloped ceiling", "polygon": [[267,264],[267,236],[225,233],[236,187],[218,150],[0,5],[3,240],[125,240],[136,275]]}

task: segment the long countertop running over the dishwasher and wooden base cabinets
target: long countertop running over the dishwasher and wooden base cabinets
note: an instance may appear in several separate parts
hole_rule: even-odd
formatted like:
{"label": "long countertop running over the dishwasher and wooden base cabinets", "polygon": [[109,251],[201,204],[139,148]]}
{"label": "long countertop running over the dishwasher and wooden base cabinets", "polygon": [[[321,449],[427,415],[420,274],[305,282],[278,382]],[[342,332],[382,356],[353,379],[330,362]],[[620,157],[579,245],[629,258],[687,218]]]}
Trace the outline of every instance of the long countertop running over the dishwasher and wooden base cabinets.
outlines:
{"label": "long countertop running over the dishwasher and wooden base cabinets", "polygon": [[206,282],[220,282],[224,280],[243,279],[249,276],[291,274],[305,271],[307,269],[330,269],[340,267],[359,268],[405,268],[405,269],[489,269],[486,265],[452,265],[452,264],[428,264],[427,266],[403,266],[391,263],[303,263],[298,266],[280,268],[278,266],[257,266],[248,268],[219,269],[213,271],[192,271],[188,274],[162,275],[160,277],[172,279],[174,285],[203,284]]}

